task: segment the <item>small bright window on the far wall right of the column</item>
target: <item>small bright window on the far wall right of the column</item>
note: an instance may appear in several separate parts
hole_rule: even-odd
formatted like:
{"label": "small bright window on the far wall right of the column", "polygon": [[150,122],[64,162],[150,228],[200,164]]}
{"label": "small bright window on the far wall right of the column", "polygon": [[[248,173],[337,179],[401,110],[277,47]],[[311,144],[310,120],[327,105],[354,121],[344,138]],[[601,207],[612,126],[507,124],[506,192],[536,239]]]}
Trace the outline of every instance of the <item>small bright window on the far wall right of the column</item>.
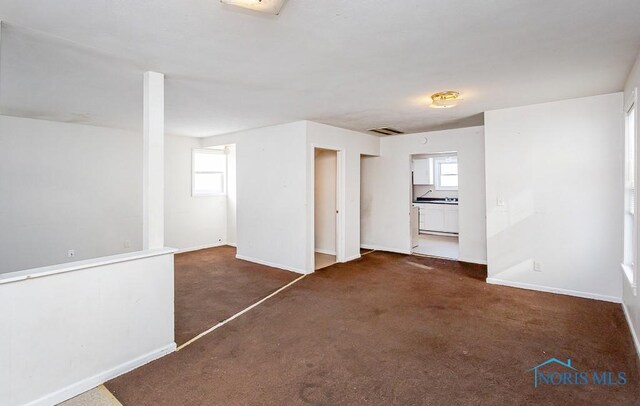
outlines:
{"label": "small bright window on the far wall right of the column", "polygon": [[227,154],[224,150],[194,149],[191,167],[192,196],[218,196],[226,193]]}

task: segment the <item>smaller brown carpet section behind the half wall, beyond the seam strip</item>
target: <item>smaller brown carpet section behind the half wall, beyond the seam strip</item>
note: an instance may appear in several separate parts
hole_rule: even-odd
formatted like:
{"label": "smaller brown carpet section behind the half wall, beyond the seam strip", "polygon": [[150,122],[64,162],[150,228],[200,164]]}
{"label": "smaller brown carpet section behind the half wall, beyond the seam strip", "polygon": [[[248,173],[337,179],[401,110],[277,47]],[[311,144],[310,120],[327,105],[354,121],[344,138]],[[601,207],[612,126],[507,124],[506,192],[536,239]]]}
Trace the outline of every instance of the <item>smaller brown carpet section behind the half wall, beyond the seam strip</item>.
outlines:
{"label": "smaller brown carpet section behind the half wall, beyond the seam strip", "polygon": [[297,278],[235,258],[233,247],[176,255],[175,333],[183,344]]}

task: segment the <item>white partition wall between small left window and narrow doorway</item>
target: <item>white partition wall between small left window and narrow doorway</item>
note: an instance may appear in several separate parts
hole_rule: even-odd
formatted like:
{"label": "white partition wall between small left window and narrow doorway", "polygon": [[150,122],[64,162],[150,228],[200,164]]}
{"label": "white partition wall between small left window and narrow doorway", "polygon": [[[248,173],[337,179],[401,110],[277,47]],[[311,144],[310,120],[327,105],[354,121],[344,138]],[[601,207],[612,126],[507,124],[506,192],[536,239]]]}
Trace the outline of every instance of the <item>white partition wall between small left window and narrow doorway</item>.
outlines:
{"label": "white partition wall between small left window and narrow doorway", "polygon": [[237,256],[307,272],[306,123],[209,137],[236,145]]}

